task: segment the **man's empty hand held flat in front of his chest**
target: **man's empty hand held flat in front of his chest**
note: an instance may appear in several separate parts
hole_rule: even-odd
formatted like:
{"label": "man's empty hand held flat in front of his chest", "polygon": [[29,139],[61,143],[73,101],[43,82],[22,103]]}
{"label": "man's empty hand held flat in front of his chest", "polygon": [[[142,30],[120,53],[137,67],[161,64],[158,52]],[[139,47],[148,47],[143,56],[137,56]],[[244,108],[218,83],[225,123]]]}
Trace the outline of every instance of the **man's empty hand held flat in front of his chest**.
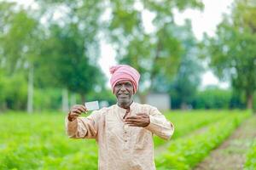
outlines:
{"label": "man's empty hand held flat in front of his chest", "polygon": [[148,114],[137,113],[136,116],[128,116],[125,118],[125,124],[131,127],[147,127],[150,123]]}

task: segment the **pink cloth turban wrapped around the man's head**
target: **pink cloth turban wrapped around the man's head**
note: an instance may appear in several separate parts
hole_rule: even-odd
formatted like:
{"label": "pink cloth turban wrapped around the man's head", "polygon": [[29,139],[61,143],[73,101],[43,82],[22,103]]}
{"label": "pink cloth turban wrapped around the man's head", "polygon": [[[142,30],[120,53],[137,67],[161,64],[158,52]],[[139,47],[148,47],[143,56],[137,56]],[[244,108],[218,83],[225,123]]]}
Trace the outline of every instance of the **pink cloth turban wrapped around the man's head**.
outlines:
{"label": "pink cloth turban wrapped around the man's head", "polygon": [[132,83],[133,94],[137,92],[140,74],[136,69],[134,69],[130,65],[115,65],[110,67],[109,71],[112,74],[112,77],[110,78],[112,92],[115,84],[119,81],[124,80],[130,81]]}

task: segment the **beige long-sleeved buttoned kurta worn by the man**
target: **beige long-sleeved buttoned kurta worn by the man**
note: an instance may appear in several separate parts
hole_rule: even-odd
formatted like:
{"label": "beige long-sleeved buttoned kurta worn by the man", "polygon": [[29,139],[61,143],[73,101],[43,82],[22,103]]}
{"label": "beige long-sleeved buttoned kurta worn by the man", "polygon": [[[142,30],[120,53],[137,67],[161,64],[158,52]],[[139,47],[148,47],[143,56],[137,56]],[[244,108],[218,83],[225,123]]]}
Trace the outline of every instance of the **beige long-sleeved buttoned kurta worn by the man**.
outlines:
{"label": "beige long-sleeved buttoned kurta worn by the man", "polygon": [[100,170],[154,170],[153,134],[170,139],[174,131],[157,108],[132,103],[128,116],[147,113],[148,127],[125,125],[125,109],[118,105],[93,111],[90,116],[78,117],[69,122],[66,117],[67,135],[70,138],[96,139],[99,145]]}

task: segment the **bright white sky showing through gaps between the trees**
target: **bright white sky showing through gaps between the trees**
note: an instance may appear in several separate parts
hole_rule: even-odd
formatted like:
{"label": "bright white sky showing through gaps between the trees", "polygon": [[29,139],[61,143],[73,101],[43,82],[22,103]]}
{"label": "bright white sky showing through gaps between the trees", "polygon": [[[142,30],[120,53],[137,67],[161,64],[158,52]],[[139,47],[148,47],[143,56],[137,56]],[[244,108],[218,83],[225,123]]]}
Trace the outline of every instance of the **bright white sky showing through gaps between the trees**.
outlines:
{"label": "bright white sky showing through gaps between the trees", "polygon": [[[33,3],[33,0],[9,0],[29,6]],[[202,11],[195,9],[187,9],[183,13],[174,11],[175,21],[177,24],[182,25],[185,19],[190,19],[192,23],[192,31],[198,40],[201,40],[203,33],[206,32],[209,36],[214,36],[216,26],[222,20],[222,15],[230,14],[230,5],[234,0],[202,0],[205,8]],[[136,8],[143,8],[139,3],[136,4]],[[151,24],[153,14],[147,11],[143,12],[143,25],[146,31],[154,30],[154,26]],[[109,78],[109,67],[116,65],[115,52],[110,44],[102,40],[101,42],[101,56],[99,59],[99,65],[102,67],[102,71]],[[229,88],[228,82],[219,82],[218,78],[212,74],[212,71],[207,68],[201,77],[201,89],[208,85],[218,85],[220,88]]]}

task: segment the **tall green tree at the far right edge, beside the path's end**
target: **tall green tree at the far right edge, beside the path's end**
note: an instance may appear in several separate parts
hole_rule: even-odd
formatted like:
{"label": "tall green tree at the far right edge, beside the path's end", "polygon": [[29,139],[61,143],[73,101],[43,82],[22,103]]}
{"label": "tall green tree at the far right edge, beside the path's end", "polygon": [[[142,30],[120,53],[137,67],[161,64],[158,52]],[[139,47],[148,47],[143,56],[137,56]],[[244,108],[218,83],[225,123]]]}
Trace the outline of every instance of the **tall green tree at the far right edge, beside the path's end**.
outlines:
{"label": "tall green tree at the far right edge, beside the path's end", "polygon": [[230,79],[233,88],[246,96],[247,108],[253,108],[256,89],[256,3],[236,0],[232,14],[218,25],[216,37],[205,44],[213,70],[221,79]]}

